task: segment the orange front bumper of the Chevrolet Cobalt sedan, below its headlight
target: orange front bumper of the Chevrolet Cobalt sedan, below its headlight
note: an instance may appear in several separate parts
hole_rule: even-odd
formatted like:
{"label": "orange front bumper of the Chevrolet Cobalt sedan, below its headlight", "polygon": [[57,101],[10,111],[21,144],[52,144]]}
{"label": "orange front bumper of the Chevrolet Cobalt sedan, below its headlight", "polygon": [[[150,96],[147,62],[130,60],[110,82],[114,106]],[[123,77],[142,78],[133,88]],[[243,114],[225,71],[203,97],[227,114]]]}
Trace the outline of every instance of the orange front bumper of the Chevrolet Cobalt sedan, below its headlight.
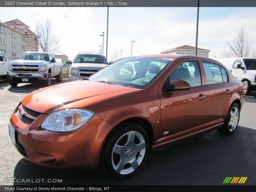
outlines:
{"label": "orange front bumper of the Chevrolet Cobalt sedan, below its headlight", "polygon": [[95,170],[106,136],[112,129],[101,117],[94,114],[83,127],[71,132],[51,132],[40,128],[47,115],[41,114],[30,125],[11,116],[15,130],[15,148],[29,161],[47,167],[82,167]]}

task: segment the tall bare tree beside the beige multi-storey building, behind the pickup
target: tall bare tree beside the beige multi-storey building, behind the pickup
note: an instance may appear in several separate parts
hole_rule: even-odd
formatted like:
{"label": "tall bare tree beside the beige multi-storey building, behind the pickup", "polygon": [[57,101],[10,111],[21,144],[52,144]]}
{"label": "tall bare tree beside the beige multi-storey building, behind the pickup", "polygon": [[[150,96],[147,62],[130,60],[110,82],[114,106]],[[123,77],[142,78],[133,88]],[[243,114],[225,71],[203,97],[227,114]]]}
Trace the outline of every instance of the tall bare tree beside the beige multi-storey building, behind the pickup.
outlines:
{"label": "tall bare tree beside the beige multi-storey building, behind the pickup", "polygon": [[59,38],[52,30],[52,22],[47,18],[45,23],[36,24],[36,35],[39,36],[39,50],[43,52],[54,52],[60,48]]}

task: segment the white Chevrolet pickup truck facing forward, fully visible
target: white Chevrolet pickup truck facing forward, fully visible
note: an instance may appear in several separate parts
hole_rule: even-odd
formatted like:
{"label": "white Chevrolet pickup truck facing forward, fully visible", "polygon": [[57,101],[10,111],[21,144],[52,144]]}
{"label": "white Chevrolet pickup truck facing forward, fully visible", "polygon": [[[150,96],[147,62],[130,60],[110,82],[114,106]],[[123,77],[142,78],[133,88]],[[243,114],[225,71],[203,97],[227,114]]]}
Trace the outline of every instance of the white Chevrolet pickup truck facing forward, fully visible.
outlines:
{"label": "white Chevrolet pickup truck facing forward, fully visible", "polygon": [[61,72],[62,63],[57,62],[52,53],[25,52],[18,60],[10,62],[7,76],[11,86],[41,81],[51,85],[51,77],[61,82]]}

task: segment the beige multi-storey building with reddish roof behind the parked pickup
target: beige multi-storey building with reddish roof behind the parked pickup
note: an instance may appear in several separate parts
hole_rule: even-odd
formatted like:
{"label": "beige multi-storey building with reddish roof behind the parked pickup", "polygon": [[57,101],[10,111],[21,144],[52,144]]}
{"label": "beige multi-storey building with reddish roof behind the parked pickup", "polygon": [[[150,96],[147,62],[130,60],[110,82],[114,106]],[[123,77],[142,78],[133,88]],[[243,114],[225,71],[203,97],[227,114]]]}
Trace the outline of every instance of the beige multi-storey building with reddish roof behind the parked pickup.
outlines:
{"label": "beige multi-storey building with reddish roof behind the parked pickup", "polygon": [[38,51],[38,36],[20,20],[1,22],[0,51],[5,52],[8,60],[15,60],[27,51]]}

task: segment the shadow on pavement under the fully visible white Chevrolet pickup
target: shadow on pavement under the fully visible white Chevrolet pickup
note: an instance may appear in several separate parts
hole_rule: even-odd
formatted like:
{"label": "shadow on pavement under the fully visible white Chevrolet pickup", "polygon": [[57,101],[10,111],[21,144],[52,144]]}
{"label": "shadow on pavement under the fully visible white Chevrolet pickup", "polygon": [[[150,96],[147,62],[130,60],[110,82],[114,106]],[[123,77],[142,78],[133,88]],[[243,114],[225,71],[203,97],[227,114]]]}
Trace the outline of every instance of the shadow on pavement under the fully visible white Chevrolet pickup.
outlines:
{"label": "shadow on pavement under the fully visible white Chevrolet pickup", "polygon": [[[62,80],[61,83],[67,83],[67,80]],[[8,83],[9,84],[9,83]],[[56,79],[51,79],[51,85],[60,84]],[[9,87],[8,91],[13,93],[31,93],[37,89],[47,87],[46,83],[30,83],[30,84],[18,84],[17,87]]]}

